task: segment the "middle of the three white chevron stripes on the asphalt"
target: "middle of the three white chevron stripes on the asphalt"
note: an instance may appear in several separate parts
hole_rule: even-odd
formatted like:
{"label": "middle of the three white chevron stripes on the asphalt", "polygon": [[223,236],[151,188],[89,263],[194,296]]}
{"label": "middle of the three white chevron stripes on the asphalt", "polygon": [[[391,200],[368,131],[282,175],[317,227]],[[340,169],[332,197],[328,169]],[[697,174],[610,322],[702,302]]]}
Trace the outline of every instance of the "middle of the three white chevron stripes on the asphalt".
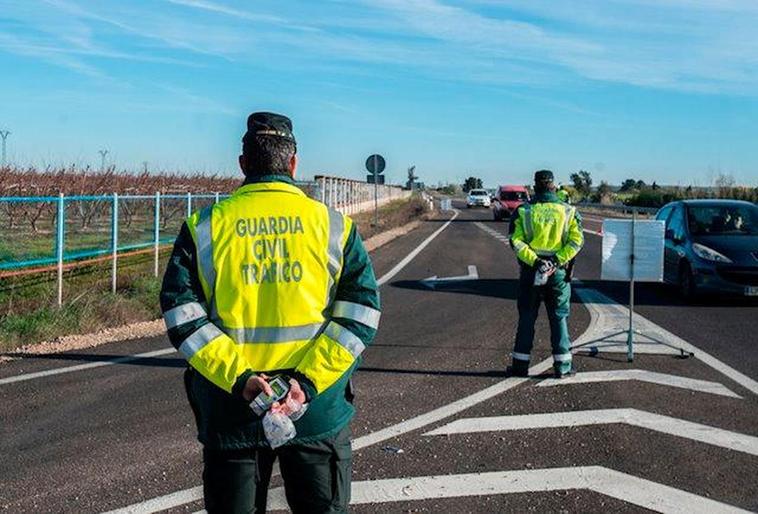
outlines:
{"label": "middle of the three white chevron stripes on the asphalt", "polygon": [[758,437],[638,409],[599,409],[520,416],[465,418],[448,423],[424,435],[470,434],[474,432],[579,427],[612,423],[646,428],[729,450],[758,455]]}

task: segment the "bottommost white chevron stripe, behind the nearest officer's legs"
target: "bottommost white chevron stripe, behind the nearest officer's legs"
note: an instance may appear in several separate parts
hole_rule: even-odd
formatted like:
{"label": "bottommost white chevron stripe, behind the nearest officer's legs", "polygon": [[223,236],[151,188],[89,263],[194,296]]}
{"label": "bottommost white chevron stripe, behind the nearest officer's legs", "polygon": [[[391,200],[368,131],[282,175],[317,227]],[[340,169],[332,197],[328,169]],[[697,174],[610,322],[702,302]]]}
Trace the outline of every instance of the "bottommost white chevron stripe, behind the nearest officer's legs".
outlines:
{"label": "bottommost white chevron stripe, behind the nearest officer's legs", "polygon": [[[583,489],[667,514],[748,512],[601,466],[495,471],[354,482],[351,505]],[[284,490],[269,492],[269,510],[287,509]]]}

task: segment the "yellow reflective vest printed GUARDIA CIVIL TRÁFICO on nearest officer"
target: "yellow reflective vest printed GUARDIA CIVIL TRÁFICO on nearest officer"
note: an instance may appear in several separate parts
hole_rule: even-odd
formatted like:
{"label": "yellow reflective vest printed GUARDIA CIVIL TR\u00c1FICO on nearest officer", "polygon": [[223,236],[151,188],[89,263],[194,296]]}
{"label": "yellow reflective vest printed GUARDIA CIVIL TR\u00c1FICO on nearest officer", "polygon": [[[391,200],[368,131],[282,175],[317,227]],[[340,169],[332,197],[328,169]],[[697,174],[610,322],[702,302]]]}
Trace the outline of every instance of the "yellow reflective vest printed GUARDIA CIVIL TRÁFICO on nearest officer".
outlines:
{"label": "yellow reflective vest printed GUARDIA CIVIL TR\u00c1FICO on nearest officer", "polygon": [[294,185],[262,182],[187,225],[211,321],[180,349],[195,369],[231,391],[246,370],[298,368],[321,392],[353,364],[360,340],[325,324],[350,218]]}

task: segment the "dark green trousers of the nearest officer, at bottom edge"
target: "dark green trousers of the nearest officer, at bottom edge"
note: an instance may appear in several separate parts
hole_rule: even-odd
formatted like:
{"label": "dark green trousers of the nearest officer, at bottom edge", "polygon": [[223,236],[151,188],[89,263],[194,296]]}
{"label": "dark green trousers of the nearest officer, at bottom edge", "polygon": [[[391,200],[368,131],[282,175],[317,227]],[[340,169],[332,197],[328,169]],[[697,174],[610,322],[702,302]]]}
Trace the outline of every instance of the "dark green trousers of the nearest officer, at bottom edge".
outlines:
{"label": "dark green trousers of the nearest officer, at bottom edge", "polygon": [[203,492],[208,514],[265,513],[277,458],[293,513],[347,512],[352,472],[349,426],[330,439],[276,450],[204,450]]}

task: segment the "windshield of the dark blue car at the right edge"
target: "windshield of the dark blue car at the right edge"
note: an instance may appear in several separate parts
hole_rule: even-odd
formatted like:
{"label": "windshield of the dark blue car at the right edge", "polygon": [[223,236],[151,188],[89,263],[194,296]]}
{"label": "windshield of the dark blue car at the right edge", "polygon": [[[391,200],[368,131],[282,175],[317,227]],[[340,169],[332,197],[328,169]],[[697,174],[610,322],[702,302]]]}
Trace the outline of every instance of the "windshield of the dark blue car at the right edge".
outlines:
{"label": "windshield of the dark blue car at the right edge", "polygon": [[693,236],[758,235],[758,207],[752,205],[697,205],[687,207]]}

